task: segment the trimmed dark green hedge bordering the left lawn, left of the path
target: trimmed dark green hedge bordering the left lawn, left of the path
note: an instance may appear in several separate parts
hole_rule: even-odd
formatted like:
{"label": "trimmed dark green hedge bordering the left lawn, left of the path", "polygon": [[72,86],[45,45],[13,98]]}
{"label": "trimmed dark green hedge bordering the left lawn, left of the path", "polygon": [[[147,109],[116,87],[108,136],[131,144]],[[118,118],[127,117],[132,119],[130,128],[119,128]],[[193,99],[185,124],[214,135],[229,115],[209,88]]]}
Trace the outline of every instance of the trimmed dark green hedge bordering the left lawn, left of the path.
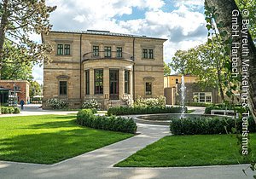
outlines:
{"label": "trimmed dark green hedge bordering the left lawn, left of the path", "polygon": [[77,124],[99,130],[113,130],[135,134],[137,124],[132,118],[96,116],[90,109],[82,109],[77,115]]}

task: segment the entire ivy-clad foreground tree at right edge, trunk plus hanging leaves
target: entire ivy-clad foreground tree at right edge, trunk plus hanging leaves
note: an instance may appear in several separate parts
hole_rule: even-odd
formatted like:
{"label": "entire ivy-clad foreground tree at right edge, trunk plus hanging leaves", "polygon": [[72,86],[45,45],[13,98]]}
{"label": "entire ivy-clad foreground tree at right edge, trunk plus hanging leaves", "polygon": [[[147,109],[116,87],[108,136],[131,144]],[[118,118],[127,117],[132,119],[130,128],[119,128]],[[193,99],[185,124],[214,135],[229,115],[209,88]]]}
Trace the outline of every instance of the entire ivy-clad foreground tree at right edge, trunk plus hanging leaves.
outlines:
{"label": "entire ivy-clad foreground tree at right edge, trunk plus hanging leaves", "polygon": [[[241,4],[239,3],[240,1],[236,1],[235,0],[226,0],[226,1],[222,1],[222,0],[205,0],[205,2],[207,3],[207,6],[210,9],[216,9],[216,13],[218,15],[215,15],[214,21],[216,22],[216,24],[218,24],[217,28],[218,28],[218,32],[221,34],[226,33],[227,37],[231,37],[230,33],[232,32],[232,23],[230,23],[232,20],[232,14],[231,12],[236,9],[239,11],[237,4]],[[255,9],[256,9],[256,2],[255,1],[241,1],[241,2],[246,2],[247,4],[250,4],[250,6],[253,6],[251,9],[252,12],[254,12],[254,14],[251,12],[252,15],[255,15]],[[246,6],[247,7],[247,6]],[[244,8],[246,8],[244,7]],[[240,6],[240,8],[242,9],[242,6]],[[250,10],[248,9],[248,10]],[[253,11],[254,10],[254,11]],[[227,13],[230,12],[230,13]],[[249,17],[250,18],[250,17]],[[250,26],[251,29],[249,29],[250,31],[254,31],[255,30],[255,17],[252,17],[252,19],[254,19],[254,24],[252,24],[253,22],[250,22]],[[219,26],[221,24],[221,26]],[[242,16],[241,13],[237,16],[237,24],[238,26],[241,28],[242,27]],[[240,30],[240,29],[239,29]],[[233,37],[233,42],[236,43],[241,43],[241,36],[238,37]],[[250,35],[250,33],[247,34],[247,47],[249,49],[249,54],[247,55],[247,60],[249,60],[249,68],[248,68],[248,73],[249,73],[249,80],[248,80],[248,86],[249,86],[249,107],[251,109],[251,112],[253,113],[253,116],[255,118],[256,116],[256,48],[255,45],[253,43],[253,38]],[[241,50],[238,50],[238,57],[239,59],[242,59],[242,53]],[[256,120],[256,118],[255,118]]]}

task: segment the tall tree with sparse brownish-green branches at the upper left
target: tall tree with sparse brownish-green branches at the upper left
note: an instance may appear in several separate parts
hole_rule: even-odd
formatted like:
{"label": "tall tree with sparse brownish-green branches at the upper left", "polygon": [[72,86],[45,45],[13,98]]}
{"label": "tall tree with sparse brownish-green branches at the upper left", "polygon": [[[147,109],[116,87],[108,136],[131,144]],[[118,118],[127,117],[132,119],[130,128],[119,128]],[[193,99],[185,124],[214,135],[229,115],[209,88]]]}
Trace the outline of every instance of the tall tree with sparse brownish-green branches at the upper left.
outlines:
{"label": "tall tree with sparse brownish-green branches at the upper left", "polygon": [[[9,57],[17,55],[5,45],[8,40],[13,47],[20,50],[15,63],[49,61],[46,52],[52,48],[49,44],[33,41],[32,34],[48,33],[49,13],[56,7],[45,5],[45,0],[3,0],[0,2],[0,78],[4,63]],[[14,54],[15,53],[15,54]]]}

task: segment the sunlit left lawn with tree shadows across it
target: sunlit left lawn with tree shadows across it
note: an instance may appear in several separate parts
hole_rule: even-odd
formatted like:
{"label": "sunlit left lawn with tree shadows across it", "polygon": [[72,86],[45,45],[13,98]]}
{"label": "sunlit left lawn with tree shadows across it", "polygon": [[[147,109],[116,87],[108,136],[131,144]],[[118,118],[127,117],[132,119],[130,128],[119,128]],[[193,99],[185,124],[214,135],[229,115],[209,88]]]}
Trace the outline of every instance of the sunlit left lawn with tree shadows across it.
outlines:
{"label": "sunlit left lawn with tree shadows across it", "polygon": [[75,115],[0,118],[0,160],[54,164],[133,135],[75,124]]}

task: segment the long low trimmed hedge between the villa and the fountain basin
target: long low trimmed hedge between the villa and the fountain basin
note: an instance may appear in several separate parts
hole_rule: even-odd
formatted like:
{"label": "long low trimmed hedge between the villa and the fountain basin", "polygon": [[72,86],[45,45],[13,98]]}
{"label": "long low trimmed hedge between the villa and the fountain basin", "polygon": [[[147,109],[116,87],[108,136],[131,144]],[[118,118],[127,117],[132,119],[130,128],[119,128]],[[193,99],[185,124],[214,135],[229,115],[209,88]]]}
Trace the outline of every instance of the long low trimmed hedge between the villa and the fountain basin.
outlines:
{"label": "long low trimmed hedge between the villa and the fountain basin", "polygon": [[[108,116],[130,115],[130,114],[151,114],[151,113],[181,113],[182,107],[111,107],[108,109]],[[186,113],[188,109],[186,108]]]}

